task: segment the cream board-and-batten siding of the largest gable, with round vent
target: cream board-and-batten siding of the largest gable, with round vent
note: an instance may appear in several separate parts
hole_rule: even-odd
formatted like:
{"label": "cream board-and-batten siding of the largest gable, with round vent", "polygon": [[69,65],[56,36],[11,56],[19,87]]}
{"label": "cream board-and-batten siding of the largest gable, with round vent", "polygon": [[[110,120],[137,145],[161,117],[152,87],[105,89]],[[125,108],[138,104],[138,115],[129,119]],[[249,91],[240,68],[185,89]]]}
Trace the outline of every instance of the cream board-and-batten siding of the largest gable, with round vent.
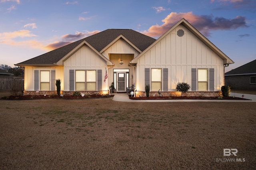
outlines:
{"label": "cream board-and-batten siding of the largest gable, with round vent", "polygon": [[[180,29],[182,37],[177,35]],[[214,91],[224,85],[223,59],[181,24],[138,58],[138,91],[145,91],[145,68],[168,68],[168,91],[176,91],[178,82],[191,85],[192,68],[214,69]]]}

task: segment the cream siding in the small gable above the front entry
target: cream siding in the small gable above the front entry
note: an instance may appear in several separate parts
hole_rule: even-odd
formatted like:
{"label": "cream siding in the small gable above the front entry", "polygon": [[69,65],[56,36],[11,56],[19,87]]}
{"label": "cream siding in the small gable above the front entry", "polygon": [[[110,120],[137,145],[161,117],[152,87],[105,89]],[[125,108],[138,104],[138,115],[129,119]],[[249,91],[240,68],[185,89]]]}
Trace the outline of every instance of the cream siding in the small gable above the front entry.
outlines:
{"label": "cream siding in the small gable above the front entry", "polygon": [[124,39],[120,38],[117,42],[113,43],[108,49],[106,49],[102,55],[109,59],[109,54],[134,54],[134,57],[140,53],[134,49]]}

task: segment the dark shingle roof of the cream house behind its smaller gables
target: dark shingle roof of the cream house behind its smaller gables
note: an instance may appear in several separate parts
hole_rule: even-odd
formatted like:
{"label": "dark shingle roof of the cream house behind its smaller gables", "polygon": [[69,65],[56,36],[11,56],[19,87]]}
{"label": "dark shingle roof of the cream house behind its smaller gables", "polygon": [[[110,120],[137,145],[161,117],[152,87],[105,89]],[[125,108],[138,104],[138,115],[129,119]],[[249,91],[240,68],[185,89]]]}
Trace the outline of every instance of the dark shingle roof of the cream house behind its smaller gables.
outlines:
{"label": "dark shingle roof of the cream house behind its smaller gables", "polygon": [[[146,49],[149,45],[156,41],[156,39],[136,32],[134,30],[128,29],[108,29],[92,36],[86,37],[82,40],[78,40],[76,42],[70,43],[63,47],[54,49],[48,53],[39,55],[32,59],[28,59],[21,63],[15,64],[18,66],[26,66],[26,65],[54,65],[58,61],[64,59],[66,55],[71,53],[73,49],[79,49],[79,45],[83,45],[86,43],[93,47],[96,51],[100,52],[104,49],[109,43],[113,42],[118,36],[122,35],[126,38],[130,43],[138,47],[141,51]],[[102,55],[103,57],[103,55]],[[103,57],[105,59],[106,57]],[[105,59],[106,60],[106,59]]]}

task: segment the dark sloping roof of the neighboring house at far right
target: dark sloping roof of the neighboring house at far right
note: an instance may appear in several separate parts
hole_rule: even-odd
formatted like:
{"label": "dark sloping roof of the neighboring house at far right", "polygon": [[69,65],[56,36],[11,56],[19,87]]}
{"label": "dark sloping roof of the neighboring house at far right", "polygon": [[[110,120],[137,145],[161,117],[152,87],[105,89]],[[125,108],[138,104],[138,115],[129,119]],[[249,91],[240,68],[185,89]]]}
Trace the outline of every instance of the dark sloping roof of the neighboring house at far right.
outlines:
{"label": "dark sloping roof of the neighboring house at far right", "polygon": [[236,69],[232,69],[225,73],[227,75],[249,75],[249,74],[256,74],[256,60],[251,61],[245,65],[237,67]]}

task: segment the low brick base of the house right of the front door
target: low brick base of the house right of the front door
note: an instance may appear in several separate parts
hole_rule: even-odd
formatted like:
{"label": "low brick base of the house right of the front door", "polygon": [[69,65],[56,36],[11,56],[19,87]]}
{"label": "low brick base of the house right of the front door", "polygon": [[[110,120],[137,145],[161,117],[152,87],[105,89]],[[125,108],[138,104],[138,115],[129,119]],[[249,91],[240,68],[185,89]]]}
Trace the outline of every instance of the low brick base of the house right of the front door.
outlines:
{"label": "low brick base of the house right of the front door", "polygon": [[[172,97],[172,96],[181,96],[180,91],[161,91],[162,95],[158,94],[158,91],[150,91],[149,96],[150,97],[157,97],[157,96],[166,96],[166,97]],[[188,91],[183,94],[183,96],[198,96],[198,97],[219,97],[222,96],[221,91]],[[145,91],[136,91],[135,97],[146,97]]]}

